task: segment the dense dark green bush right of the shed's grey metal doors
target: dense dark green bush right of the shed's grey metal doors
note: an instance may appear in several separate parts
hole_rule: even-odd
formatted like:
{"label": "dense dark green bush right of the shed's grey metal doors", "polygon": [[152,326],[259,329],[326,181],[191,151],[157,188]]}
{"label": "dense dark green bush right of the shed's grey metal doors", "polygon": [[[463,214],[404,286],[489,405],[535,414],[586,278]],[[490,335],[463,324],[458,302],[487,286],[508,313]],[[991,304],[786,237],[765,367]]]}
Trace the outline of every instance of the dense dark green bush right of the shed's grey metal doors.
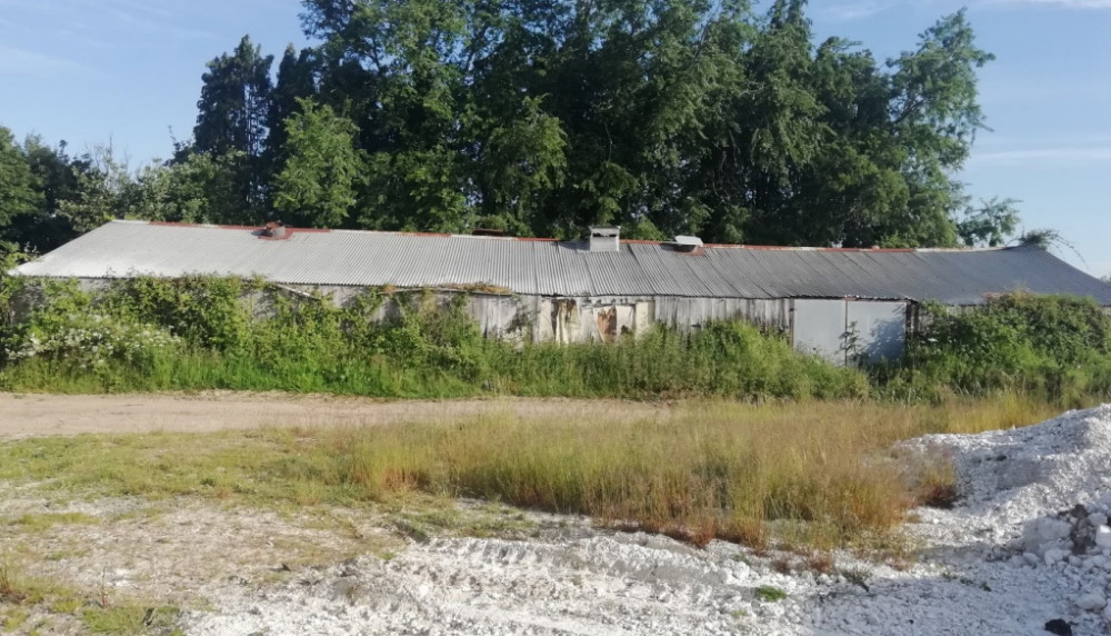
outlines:
{"label": "dense dark green bush right of the shed's grey metal doors", "polygon": [[1092,300],[1011,294],[960,311],[924,309],[925,330],[877,374],[884,391],[1013,390],[1069,405],[1111,396],[1111,318]]}

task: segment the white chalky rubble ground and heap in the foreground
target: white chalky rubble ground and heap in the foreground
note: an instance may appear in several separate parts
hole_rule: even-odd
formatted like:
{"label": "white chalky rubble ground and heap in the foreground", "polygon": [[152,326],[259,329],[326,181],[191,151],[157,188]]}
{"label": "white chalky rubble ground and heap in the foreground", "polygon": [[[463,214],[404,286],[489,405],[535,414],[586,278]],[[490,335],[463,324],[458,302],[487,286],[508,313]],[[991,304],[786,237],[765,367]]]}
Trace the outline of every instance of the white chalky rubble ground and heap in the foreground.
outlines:
{"label": "white chalky rubble ground and heap in the foreground", "polygon": [[718,541],[695,549],[579,523],[528,541],[434,539],[388,560],[294,573],[278,586],[226,582],[214,608],[192,613],[186,632],[1109,633],[1111,406],[907,446],[949,453],[961,499],[918,511],[908,529],[923,548],[902,572],[840,555],[838,574],[781,574],[782,555]]}

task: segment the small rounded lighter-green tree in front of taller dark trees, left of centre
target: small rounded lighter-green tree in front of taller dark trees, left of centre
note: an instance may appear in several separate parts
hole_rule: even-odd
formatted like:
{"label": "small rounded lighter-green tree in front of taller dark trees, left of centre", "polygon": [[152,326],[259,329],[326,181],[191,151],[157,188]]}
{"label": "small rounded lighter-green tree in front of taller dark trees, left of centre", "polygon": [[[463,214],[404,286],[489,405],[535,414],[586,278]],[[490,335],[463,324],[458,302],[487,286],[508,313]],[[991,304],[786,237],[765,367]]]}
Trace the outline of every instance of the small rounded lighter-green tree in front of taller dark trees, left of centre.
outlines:
{"label": "small rounded lighter-green tree in front of taller dark trees, left of centre", "polygon": [[274,207],[288,221],[340,227],[356,203],[362,171],[354,148],[359,129],[330,106],[299,101],[300,112],[286,121],[286,167],[274,183]]}

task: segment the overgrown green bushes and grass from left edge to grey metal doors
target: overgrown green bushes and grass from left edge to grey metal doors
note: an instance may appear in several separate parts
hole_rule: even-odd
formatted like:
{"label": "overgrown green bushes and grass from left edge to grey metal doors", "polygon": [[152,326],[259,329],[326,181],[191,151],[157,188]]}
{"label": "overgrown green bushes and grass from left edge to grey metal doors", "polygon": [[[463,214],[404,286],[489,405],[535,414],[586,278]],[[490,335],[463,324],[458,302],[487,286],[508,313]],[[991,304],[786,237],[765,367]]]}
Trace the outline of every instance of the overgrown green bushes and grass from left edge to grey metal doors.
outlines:
{"label": "overgrown green bushes and grass from left edge to grey metal doors", "polygon": [[611,345],[512,345],[482,337],[462,294],[372,289],[336,307],[261,280],[134,278],[98,291],[31,285],[41,301],[2,342],[9,388],[744,399],[869,390],[862,374],[743,322],[694,334],[657,327]]}

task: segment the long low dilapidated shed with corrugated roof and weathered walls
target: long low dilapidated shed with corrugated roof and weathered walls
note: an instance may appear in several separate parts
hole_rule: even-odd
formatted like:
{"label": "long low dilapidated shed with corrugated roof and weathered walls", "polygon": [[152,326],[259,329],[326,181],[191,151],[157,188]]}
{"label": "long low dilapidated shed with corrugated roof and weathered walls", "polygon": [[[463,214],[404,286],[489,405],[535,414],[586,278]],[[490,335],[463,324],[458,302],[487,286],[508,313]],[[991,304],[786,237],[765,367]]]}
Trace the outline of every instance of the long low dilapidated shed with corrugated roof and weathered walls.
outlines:
{"label": "long low dilapidated shed with corrugated roof and weathered walls", "polygon": [[[1111,307],[1108,285],[1034,246],[840,249],[111,221],[18,267],[18,276],[254,277],[343,302],[368,287],[469,294],[498,338],[612,341],[653,324],[747,319],[837,361],[901,354],[917,306],[983,304],[1011,291]],[[851,346],[847,346],[851,344]]]}

